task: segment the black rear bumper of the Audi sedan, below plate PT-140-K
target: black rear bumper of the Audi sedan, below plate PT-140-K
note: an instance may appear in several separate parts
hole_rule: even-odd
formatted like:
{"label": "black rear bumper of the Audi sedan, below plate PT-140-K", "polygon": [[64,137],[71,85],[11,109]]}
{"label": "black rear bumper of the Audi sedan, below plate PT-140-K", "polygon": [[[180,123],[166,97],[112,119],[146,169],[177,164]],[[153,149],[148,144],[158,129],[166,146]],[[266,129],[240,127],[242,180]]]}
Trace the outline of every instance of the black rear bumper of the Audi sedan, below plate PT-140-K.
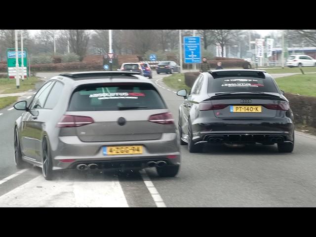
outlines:
{"label": "black rear bumper of the Audi sedan, below plate PT-140-K", "polygon": [[[227,120],[225,122],[196,123],[192,125],[193,141],[210,142],[219,138],[232,143],[277,143],[294,141],[294,124],[289,118],[267,120]],[[271,140],[275,138],[276,140]],[[281,138],[281,140],[277,140]],[[212,140],[213,141],[213,140]]]}

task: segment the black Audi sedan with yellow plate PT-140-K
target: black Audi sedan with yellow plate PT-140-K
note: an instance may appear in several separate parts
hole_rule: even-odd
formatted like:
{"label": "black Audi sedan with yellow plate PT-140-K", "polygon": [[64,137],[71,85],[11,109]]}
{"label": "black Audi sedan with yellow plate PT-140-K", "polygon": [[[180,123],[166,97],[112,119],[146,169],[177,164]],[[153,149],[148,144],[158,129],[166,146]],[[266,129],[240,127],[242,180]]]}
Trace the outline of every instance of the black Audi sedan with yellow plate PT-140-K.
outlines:
{"label": "black Audi sedan with yellow plate PT-140-K", "polygon": [[203,144],[277,144],[294,148],[293,113],[276,81],[262,70],[201,73],[179,107],[180,144],[201,152]]}

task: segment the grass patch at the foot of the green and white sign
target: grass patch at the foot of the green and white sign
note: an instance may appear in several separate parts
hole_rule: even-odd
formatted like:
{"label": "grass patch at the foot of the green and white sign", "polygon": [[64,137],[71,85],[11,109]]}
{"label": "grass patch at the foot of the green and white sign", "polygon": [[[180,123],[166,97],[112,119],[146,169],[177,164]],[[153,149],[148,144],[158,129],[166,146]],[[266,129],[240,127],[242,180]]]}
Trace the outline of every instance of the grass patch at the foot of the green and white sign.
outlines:
{"label": "grass patch at the foot of the green and white sign", "polygon": [[0,94],[18,93],[35,89],[35,84],[41,81],[35,77],[24,79],[24,81],[20,79],[20,88],[17,89],[15,79],[0,79]]}

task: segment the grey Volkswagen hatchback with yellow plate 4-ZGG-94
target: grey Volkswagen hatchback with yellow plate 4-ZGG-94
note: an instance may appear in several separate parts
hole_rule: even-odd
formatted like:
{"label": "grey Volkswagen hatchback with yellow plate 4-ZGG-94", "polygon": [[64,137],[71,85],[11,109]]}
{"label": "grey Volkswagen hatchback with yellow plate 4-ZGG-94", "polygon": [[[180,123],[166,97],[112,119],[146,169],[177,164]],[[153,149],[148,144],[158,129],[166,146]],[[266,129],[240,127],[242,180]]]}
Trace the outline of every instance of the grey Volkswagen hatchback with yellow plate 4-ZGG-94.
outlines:
{"label": "grey Volkswagen hatchback with yellow plate 4-ZGG-94", "polygon": [[155,85],[137,72],[66,73],[45,82],[14,127],[14,161],[55,170],[180,168],[171,113]]}

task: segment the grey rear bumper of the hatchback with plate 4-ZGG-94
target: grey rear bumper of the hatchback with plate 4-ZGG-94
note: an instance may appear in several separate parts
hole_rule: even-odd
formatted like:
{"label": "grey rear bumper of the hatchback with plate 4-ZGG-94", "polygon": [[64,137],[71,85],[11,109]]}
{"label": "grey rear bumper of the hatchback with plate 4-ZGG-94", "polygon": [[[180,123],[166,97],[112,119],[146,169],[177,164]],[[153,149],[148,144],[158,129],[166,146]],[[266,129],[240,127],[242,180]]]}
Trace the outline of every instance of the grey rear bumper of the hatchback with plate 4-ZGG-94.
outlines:
{"label": "grey rear bumper of the hatchback with plate 4-ZGG-94", "polygon": [[[138,155],[103,155],[104,146],[142,145],[143,154]],[[167,160],[167,164],[180,164],[180,147],[176,133],[163,133],[158,140],[123,141],[123,142],[82,142],[77,136],[59,137],[58,148],[51,151],[53,169],[73,169],[75,164],[99,162],[105,168],[114,164],[142,165],[148,161]],[[169,158],[168,156],[173,156]],[[61,159],[75,159],[62,162]],[[140,162],[142,161],[142,162]],[[110,164],[110,166],[108,165]],[[113,165],[112,165],[113,164]]]}

